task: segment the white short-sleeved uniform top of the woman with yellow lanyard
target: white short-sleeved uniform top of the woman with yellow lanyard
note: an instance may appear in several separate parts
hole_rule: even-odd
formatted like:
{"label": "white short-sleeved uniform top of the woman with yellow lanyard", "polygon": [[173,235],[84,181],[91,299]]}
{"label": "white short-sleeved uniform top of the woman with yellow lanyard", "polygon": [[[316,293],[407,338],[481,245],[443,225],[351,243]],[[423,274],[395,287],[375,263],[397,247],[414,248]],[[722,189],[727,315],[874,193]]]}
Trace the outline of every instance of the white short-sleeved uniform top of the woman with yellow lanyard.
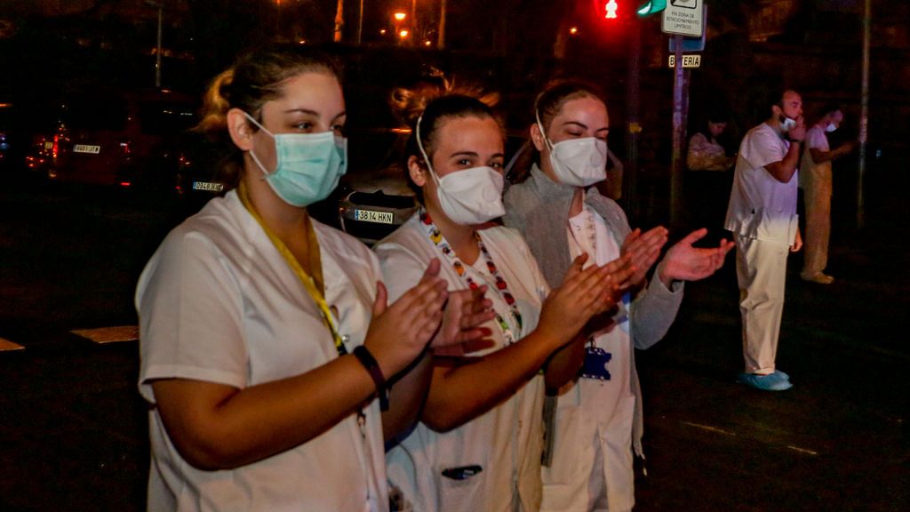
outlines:
{"label": "white short-sleeved uniform top of the woman with yellow lanyard", "polygon": [[[313,222],[326,301],[349,350],[363,343],[379,280],[375,255]],[[211,200],[161,244],[136,291],[139,391],[182,378],[237,388],[307,372],[339,357],[319,309],[237,192]],[[379,405],[287,452],[233,470],[187,464],[157,409],[149,413],[149,510],[387,510]]]}

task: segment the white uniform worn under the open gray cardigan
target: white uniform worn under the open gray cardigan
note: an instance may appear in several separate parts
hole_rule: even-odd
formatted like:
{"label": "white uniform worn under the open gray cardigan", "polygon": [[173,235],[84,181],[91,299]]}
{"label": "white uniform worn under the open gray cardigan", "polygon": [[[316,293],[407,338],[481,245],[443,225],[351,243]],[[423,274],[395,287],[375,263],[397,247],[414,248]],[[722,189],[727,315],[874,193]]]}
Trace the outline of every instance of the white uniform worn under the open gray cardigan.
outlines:
{"label": "white uniform worn under the open gray cardigan", "polygon": [[[569,220],[568,238],[572,259],[589,255],[586,266],[621,255],[615,234],[587,205]],[[619,512],[634,504],[632,340],[628,318],[616,321],[612,331],[594,337],[594,346],[610,354],[610,379],[580,377],[560,389],[552,461],[542,470],[541,511]]]}

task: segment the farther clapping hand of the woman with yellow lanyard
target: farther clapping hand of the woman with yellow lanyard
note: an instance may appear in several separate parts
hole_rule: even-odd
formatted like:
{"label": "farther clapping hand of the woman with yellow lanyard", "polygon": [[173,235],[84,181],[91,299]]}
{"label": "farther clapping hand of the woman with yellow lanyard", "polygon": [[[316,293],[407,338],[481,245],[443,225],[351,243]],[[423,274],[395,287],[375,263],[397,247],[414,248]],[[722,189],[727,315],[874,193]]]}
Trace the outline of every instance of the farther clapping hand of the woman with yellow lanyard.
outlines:
{"label": "farther clapping hand of the woman with yellow lanyard", "polygon": [[474,290],[449,292],[442,314],[439,333],[430,342],[433,348],[476,342],[490,335],[490,329],[480,327],[496,316],[493,302],[484,297],[487,286]]}

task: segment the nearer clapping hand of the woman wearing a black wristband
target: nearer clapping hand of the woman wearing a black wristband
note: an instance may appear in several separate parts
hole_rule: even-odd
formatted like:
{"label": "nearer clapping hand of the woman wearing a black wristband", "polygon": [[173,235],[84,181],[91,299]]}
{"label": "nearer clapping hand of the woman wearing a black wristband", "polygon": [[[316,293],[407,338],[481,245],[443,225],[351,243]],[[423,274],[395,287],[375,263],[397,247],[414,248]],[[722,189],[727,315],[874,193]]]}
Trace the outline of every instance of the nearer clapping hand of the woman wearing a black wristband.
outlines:
{"label": "nearer clapping hand of the woman wearing a black wristband", "polygon": [[440,327],[442,304],[449,293],[439,274],[440,261],[434,258],[420,282],[390,306],[385,285],[377,283],[373,318],[363,344],[387,379],[414,361]]}

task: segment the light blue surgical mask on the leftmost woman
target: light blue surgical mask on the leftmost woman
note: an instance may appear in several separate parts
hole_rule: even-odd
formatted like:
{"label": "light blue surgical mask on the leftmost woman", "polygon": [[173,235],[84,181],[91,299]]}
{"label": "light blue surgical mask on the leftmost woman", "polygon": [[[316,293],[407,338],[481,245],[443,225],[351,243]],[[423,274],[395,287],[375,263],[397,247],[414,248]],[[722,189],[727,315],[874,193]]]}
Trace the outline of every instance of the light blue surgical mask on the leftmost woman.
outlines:
{"label": "light blue surgical mask on the leftmost woman", "polygon": [[244,115],[275,139],[276,166],[271,172],[252,149],[249,156],[281,200],[302,208],[329,197],[348,170],[347,138],[331,131],[275,135],[246,112]]}

